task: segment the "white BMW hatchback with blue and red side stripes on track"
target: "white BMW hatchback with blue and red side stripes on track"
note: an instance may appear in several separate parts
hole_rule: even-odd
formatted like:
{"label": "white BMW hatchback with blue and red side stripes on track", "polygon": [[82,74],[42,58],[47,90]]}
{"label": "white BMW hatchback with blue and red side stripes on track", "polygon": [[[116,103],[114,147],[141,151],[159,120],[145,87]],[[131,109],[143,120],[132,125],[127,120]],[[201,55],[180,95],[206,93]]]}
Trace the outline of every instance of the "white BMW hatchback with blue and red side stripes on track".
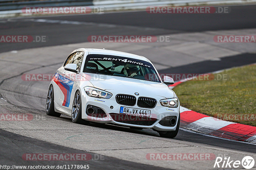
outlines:
{"label": "white BMW hatchback with blue and red side stripes on track", "polygon": [[145,57],[105,49],[80,48],[53,76],[46,114],[65,114],[78,124],[90,121],[151,128],[174,138],[180,126],[180,102]]}

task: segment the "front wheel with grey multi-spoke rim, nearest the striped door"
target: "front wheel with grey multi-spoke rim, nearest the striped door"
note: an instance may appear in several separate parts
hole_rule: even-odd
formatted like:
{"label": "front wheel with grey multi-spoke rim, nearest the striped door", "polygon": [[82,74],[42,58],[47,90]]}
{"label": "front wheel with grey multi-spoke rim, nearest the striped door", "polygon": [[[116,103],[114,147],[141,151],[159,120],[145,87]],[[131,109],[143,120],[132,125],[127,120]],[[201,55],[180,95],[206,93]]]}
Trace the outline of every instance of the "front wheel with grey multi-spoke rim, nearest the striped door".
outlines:
{"label": "front wheel with grey multi-spoke rim, nearest the striped door", "polygon": [[82,119],[82,100],[79,90],[76,92],[72,105],[72,122],[76,124],[89,124],[88,121]]}

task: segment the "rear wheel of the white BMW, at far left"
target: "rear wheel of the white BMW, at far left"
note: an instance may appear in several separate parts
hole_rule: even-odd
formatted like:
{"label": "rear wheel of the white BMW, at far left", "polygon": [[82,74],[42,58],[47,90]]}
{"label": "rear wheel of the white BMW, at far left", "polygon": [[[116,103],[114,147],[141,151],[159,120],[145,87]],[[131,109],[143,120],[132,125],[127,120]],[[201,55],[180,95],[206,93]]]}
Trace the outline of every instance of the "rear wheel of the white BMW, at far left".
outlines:
{"label": "rear wheel of the white BMW, at far left", "polygon": [[45,104],[45,112],[49,116],[60,117],[60,115],[61,115],[61,113],[57,113],[54,110],[54,92],[53,92],[52,84],[50,85],[49,90],[48,90],[46,104]]}

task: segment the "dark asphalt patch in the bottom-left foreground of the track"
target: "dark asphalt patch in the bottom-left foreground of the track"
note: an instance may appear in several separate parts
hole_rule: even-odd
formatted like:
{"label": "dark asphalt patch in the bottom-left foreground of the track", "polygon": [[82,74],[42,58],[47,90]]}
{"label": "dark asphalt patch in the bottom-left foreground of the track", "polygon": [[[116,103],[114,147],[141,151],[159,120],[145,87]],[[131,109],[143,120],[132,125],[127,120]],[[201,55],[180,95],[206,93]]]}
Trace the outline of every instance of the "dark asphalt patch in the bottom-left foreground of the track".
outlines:
{"label": "dark asphalt patch in the bottom-left foreground of the track", "polygon": [[[16,150],[15,155],[23,155],[24,153],[47,153],[49,151],[54,153],[81,153],[81,154],[90,154],[92,155],[92,160],[85,161],[72,161],[74,165],[89,165],[91,169],[160,169],[164,170],[166,168],[156,167],[151,165],[139,164],[135,162],[123,161],[121,159],[116,159],[113,157],[104,156],[104,160],[98,159],[98,156],[94,156],[94,153],[84,152],[81,150],[76,150],[73,148],[63,147],[61,145],[55,145],[48,142],[36,140],[33,138],[24,137],[17,135],[11,132],[0,130],[0,140],[1,140],[1,162],[8,164],[19,164],[24,162],[21,156],[14,157],[13,151]],[[94,159],[96,158],[96,159]],[[94,159],[94,160],[93,160]],[[42,165],[42,161],[36,160],[33,161],[34,165]],[[29,165],[31,162],[27,161]],[[65,165],[67,161],[46,161],[43,165]],[[19,164],[20,165],[20,164]],[[22,165],[27,165],[23,163]]]}

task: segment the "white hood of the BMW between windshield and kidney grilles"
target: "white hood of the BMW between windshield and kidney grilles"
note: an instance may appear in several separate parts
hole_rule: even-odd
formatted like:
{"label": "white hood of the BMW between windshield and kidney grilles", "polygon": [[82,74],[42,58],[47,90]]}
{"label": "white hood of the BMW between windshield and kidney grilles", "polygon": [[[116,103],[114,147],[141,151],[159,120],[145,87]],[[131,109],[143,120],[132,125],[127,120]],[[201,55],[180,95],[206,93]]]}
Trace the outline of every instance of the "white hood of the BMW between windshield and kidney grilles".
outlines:
{"label": "white hood of the BMW between windshield and kidney grilles", "polygon": [[174,92],[164,83],[101,74],[87,74],[95,88],[116,94],[129,94],[154,98],[173,98]]}

